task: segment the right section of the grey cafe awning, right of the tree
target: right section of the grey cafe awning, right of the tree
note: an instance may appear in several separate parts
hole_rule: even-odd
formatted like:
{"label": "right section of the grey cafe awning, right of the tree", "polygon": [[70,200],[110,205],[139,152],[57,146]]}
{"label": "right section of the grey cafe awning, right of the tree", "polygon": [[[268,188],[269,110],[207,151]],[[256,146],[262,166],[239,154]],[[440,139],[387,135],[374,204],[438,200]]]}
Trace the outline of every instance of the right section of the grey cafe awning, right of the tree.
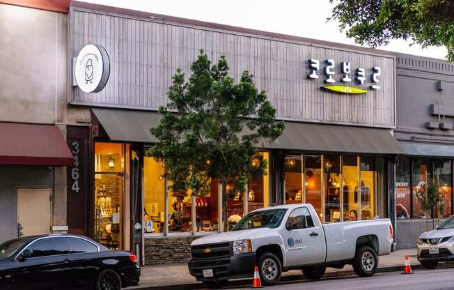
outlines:
{"label": "right section of the grey cafe awning, right of the tree", "polygon": [[285,122],[283,135],[263,148],[336,153],[404,154],[387,129]]}

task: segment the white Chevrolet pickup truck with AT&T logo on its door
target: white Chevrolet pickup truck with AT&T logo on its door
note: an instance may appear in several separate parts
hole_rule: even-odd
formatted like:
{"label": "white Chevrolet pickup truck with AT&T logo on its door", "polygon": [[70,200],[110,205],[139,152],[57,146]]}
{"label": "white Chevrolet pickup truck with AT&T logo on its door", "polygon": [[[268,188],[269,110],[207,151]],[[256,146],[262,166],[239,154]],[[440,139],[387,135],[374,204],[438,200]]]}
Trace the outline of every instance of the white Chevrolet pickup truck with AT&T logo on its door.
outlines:
{"label": "white Chevrolet pickup truck with AT&T logo on its door", "polygon": [[389,219],[322,224],[311,204],[272,206],[251,211],[232,231],[191,243],[189,272],[208,286],[252,277],[258,266],[265,285],[283,271],[302,269],[311,280],[327,267],[352,264],[359,276],[377,270],[379,255],[396,248]]}

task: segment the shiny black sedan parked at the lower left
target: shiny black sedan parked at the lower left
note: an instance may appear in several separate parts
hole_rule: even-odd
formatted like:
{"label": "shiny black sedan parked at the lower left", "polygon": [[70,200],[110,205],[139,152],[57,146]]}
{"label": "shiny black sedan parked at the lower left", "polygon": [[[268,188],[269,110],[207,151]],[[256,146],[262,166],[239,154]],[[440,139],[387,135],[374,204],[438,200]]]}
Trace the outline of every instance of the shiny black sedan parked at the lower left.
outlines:
{"label": "shiny black sedan parked at the lower left", "polygon": [[117,290],[139,284],[136,256],[84,236],[46,235],[0,244],[0,289]]}

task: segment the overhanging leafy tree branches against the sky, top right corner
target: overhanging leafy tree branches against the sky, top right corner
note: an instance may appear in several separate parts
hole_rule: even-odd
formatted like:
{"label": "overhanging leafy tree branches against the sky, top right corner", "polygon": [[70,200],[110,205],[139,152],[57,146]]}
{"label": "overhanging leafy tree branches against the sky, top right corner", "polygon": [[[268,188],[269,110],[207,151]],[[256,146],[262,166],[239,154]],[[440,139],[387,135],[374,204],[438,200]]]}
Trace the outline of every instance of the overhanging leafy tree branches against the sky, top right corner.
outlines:
{"label": "overhanging leafy tree branches against the sky, top right corner", "polygon": [[446,46],[454,60],[454,1],[452,0],[330,0],[328,20],[338,20],[360,45],[378,47],[391,39],[413,40],[428,46]]}

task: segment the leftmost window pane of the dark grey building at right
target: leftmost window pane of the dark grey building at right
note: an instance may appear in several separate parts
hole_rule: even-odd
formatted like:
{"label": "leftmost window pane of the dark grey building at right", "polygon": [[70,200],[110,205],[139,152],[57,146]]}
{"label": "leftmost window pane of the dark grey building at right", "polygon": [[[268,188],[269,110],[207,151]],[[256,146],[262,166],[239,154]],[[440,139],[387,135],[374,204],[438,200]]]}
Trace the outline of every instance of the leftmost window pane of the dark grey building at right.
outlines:
{"label": "leftmost window pane of the dark grey building at right", "polygon": [[409,158],[400,157],[396,165],[396,218],[399,220],[410,218],[411,171]]}

